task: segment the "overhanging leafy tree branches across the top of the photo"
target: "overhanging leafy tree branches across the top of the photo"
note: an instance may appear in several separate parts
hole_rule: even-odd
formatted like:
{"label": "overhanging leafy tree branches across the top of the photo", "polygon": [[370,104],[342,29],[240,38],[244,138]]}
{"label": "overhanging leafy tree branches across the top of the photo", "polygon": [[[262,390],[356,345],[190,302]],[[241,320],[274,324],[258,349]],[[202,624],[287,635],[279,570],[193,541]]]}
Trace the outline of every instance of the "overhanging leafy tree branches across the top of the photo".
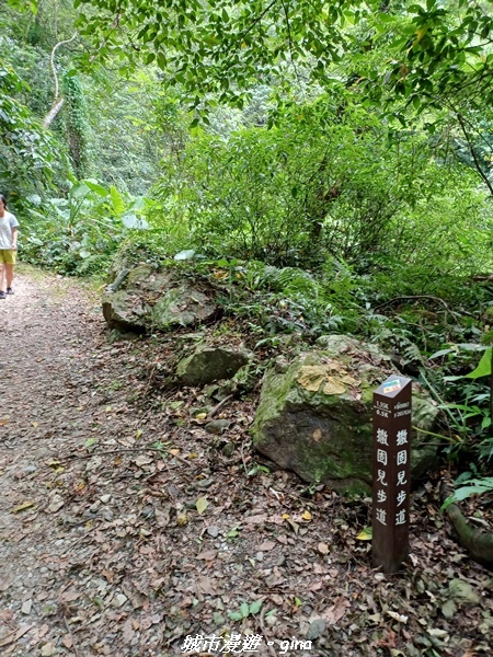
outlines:
{"label": "overhanging leafy tree branches across the top of the photo", "polygon": [[[493,99],[491,0],[444,5],[381,0],[76,0],[80,30],[101,61],[157,62],[167,79],[200,93],[239,99],[260,77],[330,87],[334,64],[385,46],[388,57],[348,78],[375,100],[402,95],[417,108],[450,94]],[[88,55],[93,60],[94,54]],[[126,65],[126,66],[127,66]],[[376,84],[377,83],[377,84]]]}

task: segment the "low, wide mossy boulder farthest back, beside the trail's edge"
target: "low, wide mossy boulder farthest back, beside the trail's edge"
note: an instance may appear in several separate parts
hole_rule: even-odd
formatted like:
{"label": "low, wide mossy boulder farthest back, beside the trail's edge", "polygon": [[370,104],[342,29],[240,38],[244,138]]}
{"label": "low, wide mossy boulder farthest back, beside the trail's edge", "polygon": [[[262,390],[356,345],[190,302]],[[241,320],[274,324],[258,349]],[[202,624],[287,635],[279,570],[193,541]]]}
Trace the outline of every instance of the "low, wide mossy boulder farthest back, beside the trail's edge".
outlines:
{"label": "low, wide mossy boulder farthest back, beside the trail's edge", "polygon": [[218,310],[213,298],[210,288],[177,269],[145,264],[115,276],[103,296],[103,315],[118,331],[169,331],[209,321]]}

